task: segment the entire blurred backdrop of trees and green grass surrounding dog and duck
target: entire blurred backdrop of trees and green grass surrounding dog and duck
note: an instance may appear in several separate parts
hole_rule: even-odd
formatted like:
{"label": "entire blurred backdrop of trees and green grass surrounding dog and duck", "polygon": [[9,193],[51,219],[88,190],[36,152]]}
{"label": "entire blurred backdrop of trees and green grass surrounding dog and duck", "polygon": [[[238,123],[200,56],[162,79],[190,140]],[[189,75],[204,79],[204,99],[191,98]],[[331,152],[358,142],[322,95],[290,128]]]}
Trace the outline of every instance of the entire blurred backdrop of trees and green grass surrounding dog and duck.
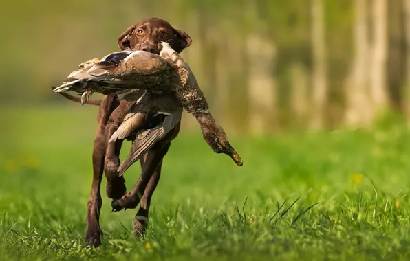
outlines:
{"label": "entire blurred backdrop of trees and green grass surrounding dog and duck", "polygon": [[[193,39],[182,56],[244,166],[184,113],[147,238],[132,236],[135,211],[111,213],[102,181],[93,252],[98,106],[50,86],[147,17]],[[410,0],[2,1],[0,32],[0,260],[409,260]]]}

